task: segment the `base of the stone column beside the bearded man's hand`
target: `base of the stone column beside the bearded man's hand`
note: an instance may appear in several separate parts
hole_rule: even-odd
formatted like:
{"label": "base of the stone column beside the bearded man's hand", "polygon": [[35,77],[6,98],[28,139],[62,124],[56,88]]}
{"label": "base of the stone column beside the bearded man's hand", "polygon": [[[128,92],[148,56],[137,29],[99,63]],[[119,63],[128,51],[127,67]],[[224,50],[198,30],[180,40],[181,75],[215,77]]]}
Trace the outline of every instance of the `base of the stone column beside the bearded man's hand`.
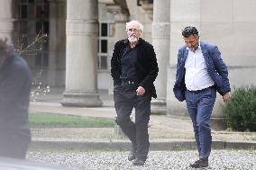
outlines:
{"label": "base of the stone column beside the bearded man's hand", "polygon": [[152,99],[151,101],[151,114],[166,115],[166,100]]}

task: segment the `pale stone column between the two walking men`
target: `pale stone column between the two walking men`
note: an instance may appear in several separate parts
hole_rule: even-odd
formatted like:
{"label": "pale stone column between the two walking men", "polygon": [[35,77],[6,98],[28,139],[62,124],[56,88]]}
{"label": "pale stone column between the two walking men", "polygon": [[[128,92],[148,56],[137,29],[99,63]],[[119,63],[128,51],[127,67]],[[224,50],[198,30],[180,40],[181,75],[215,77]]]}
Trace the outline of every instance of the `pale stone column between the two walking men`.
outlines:
{"label": "pale stone column between the two walking men", "polygon": [[169,0],[154,1],[152,44],[159,64],[155,81],[158,99],[151,102],[151,112],[166,114],[167,66],[169,64]]}

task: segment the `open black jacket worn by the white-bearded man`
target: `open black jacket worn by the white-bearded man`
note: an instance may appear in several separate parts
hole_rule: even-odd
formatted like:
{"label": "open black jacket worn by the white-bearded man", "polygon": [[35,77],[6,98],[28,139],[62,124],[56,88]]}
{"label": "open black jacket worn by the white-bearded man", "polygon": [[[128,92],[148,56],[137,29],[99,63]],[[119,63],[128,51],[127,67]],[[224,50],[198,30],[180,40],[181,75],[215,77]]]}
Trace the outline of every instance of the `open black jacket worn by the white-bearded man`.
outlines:
{"label": "open black jacket worn by the white-bearded man", "polygon": [[[127,45],[129,45],[127,39],[119,40],[114,45],[114,53],[111,58],[111,76],[113,77],[114,85],[121,84],[121,58]],[[146,91],[151,92],[152,97],[157,98],[153,82],[158,76],[159,67],[153,46],[141,38],[137,46],[138,64],[134,67],[136,69],[137,78],[139,79],[139,86],[144,87]]]}

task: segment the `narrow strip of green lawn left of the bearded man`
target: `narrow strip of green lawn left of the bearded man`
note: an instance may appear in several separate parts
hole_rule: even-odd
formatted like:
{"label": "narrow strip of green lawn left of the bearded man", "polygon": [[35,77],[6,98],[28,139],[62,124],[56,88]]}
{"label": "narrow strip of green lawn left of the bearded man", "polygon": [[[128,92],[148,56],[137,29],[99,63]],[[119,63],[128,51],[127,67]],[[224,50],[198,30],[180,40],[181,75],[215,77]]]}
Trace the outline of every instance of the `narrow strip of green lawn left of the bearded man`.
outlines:
{"label": "narrow strip of green lawn left of the bearded man", "polygon": [[69,115],[57,115],[50,113],[30,113],[29,114],[30,125],[43,126],[43,127],[114,127],[114,119],[105,118],[87,118]]}

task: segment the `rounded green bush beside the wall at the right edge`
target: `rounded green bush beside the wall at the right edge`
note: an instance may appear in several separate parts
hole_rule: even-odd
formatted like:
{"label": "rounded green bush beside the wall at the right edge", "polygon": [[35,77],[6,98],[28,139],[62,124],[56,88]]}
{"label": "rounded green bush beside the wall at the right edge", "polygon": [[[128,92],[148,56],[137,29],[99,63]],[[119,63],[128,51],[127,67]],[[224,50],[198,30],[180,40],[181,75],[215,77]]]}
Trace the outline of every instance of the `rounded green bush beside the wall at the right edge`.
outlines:
{"label": "rounded green bush beside the wall at the right edge", "polygon": [[256,131],[256,87],[234,89],[231,100],[224,106],[224,115],[232,130]]}

